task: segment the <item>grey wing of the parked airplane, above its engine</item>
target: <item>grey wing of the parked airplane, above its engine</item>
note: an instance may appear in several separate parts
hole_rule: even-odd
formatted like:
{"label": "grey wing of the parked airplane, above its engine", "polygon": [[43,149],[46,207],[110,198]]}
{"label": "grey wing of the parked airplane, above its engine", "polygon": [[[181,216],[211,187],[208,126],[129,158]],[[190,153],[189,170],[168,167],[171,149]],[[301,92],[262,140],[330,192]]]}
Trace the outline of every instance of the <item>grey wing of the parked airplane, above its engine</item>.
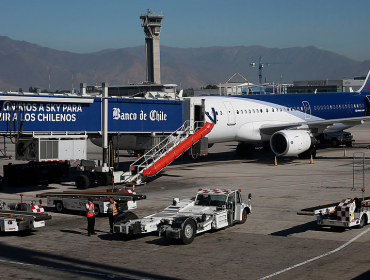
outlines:
{"label": "grey wing of the parked airplane, above its engine", "polygon": [[342,118],[342,119],[330,119],[321,121],[307,121],[307,122],[296,122],[296,123],[284,123],[277,125],[262,125],[260,131],[267,135],[272,135],[276,131],[283,129],[307,129],[313,133],[322,133],[328,126],[332,126],[336,123],[341,123],[348,126],[355,126],[363,124],[365,121],[370,120],[370,116],[356,117],[356,118]]}

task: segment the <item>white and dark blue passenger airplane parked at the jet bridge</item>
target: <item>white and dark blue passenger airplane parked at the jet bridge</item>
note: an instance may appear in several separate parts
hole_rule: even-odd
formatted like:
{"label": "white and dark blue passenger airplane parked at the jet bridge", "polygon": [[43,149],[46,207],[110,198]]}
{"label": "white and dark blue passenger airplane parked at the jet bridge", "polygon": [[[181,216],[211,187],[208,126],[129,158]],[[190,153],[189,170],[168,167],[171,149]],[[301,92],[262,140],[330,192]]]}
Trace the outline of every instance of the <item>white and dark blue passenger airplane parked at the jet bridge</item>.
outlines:
{"label": "white and dark blue passenger airplane parked at the jet bridge", "polygon": [[[356,92],[203,96],[184,98],[202,104],[204,114],[191,119],[214,123],[207,135],[209,146],[237,141],[237,152],[249,154],[248,143],[270,142],[277,156],[312,155],[316,137],[342,131],[370,119],[370,71]],[[369,96],[368,96],[369,95]],[[121,136],[120,149],[130,149],[132,136]],[[92,139],[99,145],[99,139]]]}

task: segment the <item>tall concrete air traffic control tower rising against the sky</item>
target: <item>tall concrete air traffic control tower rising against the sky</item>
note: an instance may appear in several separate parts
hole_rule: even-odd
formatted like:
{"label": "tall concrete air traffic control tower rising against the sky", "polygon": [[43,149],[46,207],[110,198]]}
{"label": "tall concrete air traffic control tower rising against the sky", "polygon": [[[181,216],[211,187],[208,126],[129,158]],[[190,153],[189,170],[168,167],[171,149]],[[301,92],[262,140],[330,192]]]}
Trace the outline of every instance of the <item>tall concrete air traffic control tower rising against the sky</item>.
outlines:
{"label": "tall concrete air traffic control tower rising against the sky", "polygon": [[156,15],[148,9],[146,15],[140,15],[141,26],[145,33],[146,80],[154,84],[161,83],[161,61],[159,51],[159,34],[161,33],[163,15]]}

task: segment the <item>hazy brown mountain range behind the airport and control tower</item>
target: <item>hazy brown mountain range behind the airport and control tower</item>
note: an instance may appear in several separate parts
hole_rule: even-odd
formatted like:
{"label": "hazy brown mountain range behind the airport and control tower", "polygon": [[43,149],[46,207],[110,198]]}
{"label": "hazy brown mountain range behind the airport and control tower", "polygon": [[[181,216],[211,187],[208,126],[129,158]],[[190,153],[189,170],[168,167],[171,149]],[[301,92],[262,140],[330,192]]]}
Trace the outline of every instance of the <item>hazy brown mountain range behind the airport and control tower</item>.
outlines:
{"label": "hazy brown mountain range behind the airport and control tower", "polygon": [[[262,46],[174,48],[161,46],[162,83],[178,88],[200,88],[226,82],[235,73],[258,83],[262,57],[263,82],[292,83],[364,76],[370,60],[359,62],[314,46],[266,48]],[[256,63],[251,67],[250,63]],[[87,85],[127,85],[145,81],[145,47],[106,49],[78,54],[58,51],[0,36],[0,90],[28,91],[29,87],[70,90]],[[96,78],[95,78],[96,73]],[[73,79],[72,79],[73,77]],[[232,81],[242,82],[239,77]]]}

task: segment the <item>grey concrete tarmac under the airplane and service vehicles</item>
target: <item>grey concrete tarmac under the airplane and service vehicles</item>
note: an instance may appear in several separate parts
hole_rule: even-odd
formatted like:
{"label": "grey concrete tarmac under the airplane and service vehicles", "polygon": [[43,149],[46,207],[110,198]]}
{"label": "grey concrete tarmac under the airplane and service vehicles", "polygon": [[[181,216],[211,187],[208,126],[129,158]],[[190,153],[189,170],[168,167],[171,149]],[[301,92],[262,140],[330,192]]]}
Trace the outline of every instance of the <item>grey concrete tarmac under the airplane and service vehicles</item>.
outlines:
{"label": "grey concrete tarmac under the airplane and service vehicles", "polygon": [[[277,158],[275,165],[274,154],[262,149],[252,159],[239,159],[236,142],[222,143],[206,157],[176,160],[136,187],[147,196],[138,201],[134,211],[138,217],[161,211],[174,197],[193,197],[200,188],[240,189],[244,200],[252,194],[252,213],[245,224],[206,232],[190,245],[180,245],[151,233],[122,240],[109,233],[105,216],[96,218],[97,235],[88,237],[84,213],[56,213],[45,207],[52,215],[45,227],[0,236],[0,275],[2,279],[370,279],[370,225],[320,228],[314,216],[297,215],[303,208],[361,197],[362,186],[367,188],[370,124],[348,131],[356,139],[353,147],[322,145],[313,163],[292,157]],[[17,163],[14,147],[7,146],[13,159],[0,161]],[[101,150],[89,143],[88,155],[99,159]],[[135,158],[121,151],[120,160],[127,168]],[[70,180],[5,186],[0,199],[18,202],[23,193],[28,202],[38,193],[76,190],[72,178],[76,164]]]}

